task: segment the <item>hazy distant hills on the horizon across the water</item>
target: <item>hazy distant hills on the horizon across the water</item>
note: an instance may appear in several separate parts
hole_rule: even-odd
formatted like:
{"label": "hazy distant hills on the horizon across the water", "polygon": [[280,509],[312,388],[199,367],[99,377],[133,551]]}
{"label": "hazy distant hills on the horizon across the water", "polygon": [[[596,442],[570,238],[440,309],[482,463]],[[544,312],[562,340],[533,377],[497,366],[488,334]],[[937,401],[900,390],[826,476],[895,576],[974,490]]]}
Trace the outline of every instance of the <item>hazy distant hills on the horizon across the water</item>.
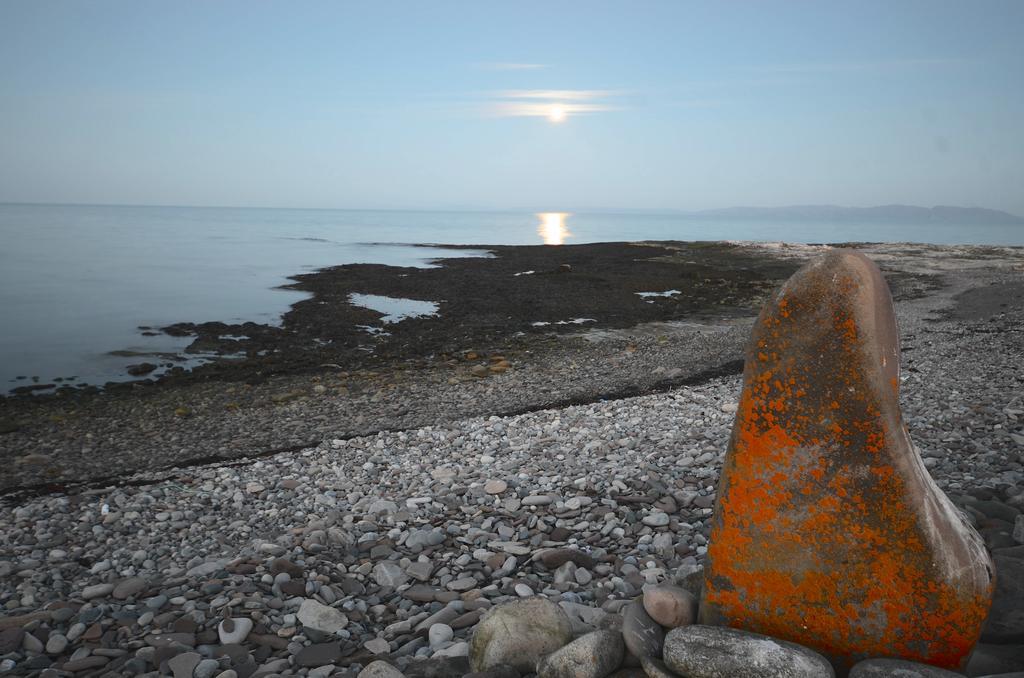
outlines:
{"label": "hazy distant hills on the horizon across the water", "polygon": [[814,219],[825,221],[932,221],[940,223],[1024,224],[1024,217],[981,207],[840,207],[838,205],[793,205],[790,207],[727,207],[689,212],[696,216],[734,219]]}

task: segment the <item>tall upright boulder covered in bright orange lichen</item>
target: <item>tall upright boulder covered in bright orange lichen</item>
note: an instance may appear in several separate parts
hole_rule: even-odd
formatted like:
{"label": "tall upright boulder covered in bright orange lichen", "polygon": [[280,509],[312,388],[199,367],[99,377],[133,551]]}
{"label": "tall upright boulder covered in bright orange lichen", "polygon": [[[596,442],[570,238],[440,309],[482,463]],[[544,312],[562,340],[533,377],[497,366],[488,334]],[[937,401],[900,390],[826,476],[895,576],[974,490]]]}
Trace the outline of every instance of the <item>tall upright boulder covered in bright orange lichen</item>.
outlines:
{"label": "tall upright boulder covered in bright orange lichen", "polygon": [[831,250],[755,325],[712,525],[700,619],[818,649],[962,667],[988,612],[980,537],[899,409],[892,298]]}

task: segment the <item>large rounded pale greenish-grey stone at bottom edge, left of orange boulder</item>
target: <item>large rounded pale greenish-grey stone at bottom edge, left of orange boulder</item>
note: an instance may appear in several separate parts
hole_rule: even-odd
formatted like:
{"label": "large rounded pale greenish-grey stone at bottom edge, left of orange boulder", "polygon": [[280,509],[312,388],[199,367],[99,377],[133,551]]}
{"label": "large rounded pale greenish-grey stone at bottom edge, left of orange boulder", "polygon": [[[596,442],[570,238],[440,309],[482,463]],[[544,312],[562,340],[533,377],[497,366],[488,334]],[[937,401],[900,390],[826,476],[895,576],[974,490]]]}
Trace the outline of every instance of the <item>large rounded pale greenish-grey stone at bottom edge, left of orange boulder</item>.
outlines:
{"label": "large rounded pale greenish-grey stone at bottom edge, left of orange boulder", "polygon": [[572,640],[572,625],[561,607],[530,596],[492,607],[473,630],[469,664],[486,671],[507,664],[531,673],[537,662]]}

